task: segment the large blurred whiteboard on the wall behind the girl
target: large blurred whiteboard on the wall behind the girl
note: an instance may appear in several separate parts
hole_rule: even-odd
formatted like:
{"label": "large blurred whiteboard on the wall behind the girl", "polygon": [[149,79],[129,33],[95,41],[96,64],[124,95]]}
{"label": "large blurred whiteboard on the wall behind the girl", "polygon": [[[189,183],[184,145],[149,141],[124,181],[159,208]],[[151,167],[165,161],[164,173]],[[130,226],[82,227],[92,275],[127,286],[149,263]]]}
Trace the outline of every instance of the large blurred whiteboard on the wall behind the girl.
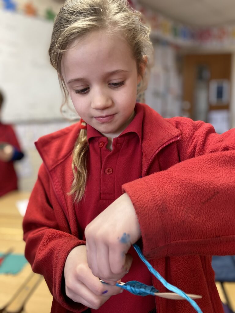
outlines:
{"label": "large blurred whiteboard on the wall behind the girl", "polygon": [[[48,49],[51,21],[0,10],[0,90],[3,120],[58,120],[63,97]],[[67,117],[74,117],[68,112]]]}

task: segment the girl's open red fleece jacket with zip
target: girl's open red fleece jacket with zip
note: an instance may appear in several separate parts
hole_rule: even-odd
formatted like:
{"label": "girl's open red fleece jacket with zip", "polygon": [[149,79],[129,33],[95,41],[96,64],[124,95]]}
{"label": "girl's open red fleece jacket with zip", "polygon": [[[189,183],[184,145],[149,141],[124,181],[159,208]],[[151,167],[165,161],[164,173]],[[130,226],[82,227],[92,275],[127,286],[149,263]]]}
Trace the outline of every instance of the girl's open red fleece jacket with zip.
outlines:
{"label": "girl's open red fleece jacket with zip", "polygon": [[[235,254],[235,129],[219,135],[204,122],[163,119],[143,107],[143,178],[123,185],[123,192],[136,210],[144,255],[169,283],[201,294],[197,303],[204,313],[222,313],[211,256]],[[23,222],[25,255],[45,277],[54,296],[52,312],[85,310],[66,297],[63,276],[71,249],[85,244],[67,195],[78,133],[74,124],[36,142],[43,164]],[[187,301],[158,297],[156,308],[195,312]]]}

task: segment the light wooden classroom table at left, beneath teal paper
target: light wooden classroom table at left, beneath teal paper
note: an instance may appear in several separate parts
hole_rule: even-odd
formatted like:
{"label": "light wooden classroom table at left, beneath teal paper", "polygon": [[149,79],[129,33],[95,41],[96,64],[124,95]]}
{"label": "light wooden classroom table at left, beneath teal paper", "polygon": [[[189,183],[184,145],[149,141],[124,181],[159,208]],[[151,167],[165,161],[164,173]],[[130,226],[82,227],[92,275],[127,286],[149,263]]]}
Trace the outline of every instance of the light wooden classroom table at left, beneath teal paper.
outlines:
{"label": "light wooden classroom table at left, beneath teal paper", "polygon": [[[0,250],[13,248],[13,253],[24,254],[22,216],[18,212],[16,202],[29,198],[29,192],[10,192],[0,198]],[[29,280],[30,279],[30,280]],[[28,282],[28,285],[26,284]],[[32,288],[31,288],[31,287]],[[30,288],[32,289],[30,291]],[[24,304],[24,312],[50,313],[52,295],[41,275],[34,274],[31,266],[26,264],[16,275],[0,274],[0,312],[19,313],[19,302],[22,294],[28,293]],[[17,298],[18,294],[18,298]],[[4,309],[4,310],[3,310]]]}

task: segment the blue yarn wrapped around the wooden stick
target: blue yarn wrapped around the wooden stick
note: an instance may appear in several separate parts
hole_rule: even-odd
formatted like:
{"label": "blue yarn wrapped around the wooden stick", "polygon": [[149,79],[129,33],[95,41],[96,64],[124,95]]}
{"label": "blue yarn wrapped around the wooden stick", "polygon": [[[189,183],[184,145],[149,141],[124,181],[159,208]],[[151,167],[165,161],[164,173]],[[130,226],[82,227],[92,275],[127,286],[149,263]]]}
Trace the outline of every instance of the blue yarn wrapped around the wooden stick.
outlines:
{"label": "blue yarn wrapped around the wooden stick", "polygon": [[154,295],[155,292],[159,292],[154,286],[148,286],[136,280],[130,280],[125,283],[125,285],[119,285],[117,283],[116,286],[131,292],[133,295],[141,295],[142,297],[146,295]]}

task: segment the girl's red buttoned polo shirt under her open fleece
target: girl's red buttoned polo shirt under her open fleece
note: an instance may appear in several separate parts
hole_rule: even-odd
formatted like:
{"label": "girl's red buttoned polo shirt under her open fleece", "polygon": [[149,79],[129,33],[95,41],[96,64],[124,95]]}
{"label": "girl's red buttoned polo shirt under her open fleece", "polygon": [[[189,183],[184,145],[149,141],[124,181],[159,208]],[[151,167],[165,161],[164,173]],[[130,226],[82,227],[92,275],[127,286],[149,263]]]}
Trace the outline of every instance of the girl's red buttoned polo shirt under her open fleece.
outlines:
{"label": "girl's red buttoned polo shirt under her open fleece", "polygon": [[[136,115],[128,127],[113,139],[112,151],[106,148],[107,137],[87,125],[89,152],[87,158],[88,179],[84,200],[76,205],[76,216],[80,238],[84,238],[86,225],[122,195],[122,185],[141,176],[142,170],[142,121],[143,108],[136,109]],[[79,216],[83,216],[82,219]],[[138,280],[152,285],[151,274],[139,259],[133,248],[129,251],[133,263],[123,282]],[[127,291],[112,296],[96,313],[148,313],[155,308],[153,296],[135,296]]]}

